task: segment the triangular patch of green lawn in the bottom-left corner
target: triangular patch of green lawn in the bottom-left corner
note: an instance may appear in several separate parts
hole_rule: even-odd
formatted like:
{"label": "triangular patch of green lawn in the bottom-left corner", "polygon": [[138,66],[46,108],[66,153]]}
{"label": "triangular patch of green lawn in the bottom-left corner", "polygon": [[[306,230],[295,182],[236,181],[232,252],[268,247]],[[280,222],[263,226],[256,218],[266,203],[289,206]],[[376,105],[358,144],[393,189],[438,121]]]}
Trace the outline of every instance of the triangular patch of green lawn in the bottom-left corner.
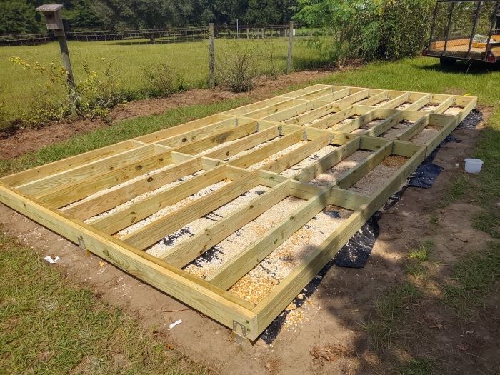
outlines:
{"label": "triangular patch of green lawn in the bottom-left corner", "polygon": [[0,374],[208,373],[1,228],[0,249]]}

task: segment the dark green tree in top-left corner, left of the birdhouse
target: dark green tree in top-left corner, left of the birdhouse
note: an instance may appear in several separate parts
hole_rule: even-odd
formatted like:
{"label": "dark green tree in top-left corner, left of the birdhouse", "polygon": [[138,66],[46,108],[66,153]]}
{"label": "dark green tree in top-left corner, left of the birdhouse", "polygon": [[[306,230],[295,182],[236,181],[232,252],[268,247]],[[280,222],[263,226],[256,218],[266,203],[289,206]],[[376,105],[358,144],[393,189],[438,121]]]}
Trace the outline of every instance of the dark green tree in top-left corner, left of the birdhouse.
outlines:
{"label": "dark green tree in top-left corner, left of the birdhouse", "polygon": [[0,1],[0,34],[38,33],[40,26],[34,7],[26,1]]}

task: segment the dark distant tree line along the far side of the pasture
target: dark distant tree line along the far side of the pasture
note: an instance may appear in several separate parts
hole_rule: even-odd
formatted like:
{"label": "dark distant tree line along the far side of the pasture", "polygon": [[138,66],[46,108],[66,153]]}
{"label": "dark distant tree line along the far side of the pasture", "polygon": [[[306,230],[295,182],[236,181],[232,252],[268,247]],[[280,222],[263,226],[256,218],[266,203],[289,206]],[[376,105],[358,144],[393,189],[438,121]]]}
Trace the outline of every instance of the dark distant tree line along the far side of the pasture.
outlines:
{"label": "dark distant tree line along the far side of the pasture", "polygon": [[[43,30],[34,8],[40,0],[0,2],[0,33]],[[284,24],[291,20],[296,0],[66,0],[66,30],[164,28],[190,24]]]}

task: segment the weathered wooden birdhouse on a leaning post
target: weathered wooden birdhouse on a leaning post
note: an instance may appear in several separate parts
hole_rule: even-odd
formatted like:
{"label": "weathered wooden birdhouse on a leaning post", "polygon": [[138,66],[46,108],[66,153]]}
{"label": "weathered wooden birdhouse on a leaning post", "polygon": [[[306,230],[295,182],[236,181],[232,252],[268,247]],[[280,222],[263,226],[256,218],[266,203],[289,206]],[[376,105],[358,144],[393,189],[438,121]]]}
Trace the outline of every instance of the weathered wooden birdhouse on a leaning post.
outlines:
{"label": "weathered wooden birdhouse on a leaning post", "polygon": [[69,59],[68,41],[64,33],[64,25],[62,23],[61,14],[59,11],[64,6],[61,4],[44,4],[36,8],[45,16],[45,23],[47,30],[52,30],[54,35],[57,36],[59,41],[59,49],[61,49],[61,58],[63,61],[64,69],[66,69],[68,86],[69,86],[69,99],[71,101],[71,114],[76,115],[76,90],[73,78],[73,69],[71,69],[71,60]]}

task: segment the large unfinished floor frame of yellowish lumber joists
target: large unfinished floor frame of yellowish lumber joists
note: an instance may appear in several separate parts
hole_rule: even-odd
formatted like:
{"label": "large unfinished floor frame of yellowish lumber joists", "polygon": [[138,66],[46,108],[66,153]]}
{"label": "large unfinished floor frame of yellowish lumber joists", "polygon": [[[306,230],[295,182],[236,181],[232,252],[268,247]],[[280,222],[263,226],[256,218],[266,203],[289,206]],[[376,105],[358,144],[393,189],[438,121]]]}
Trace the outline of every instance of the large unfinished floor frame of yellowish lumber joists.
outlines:
{"label": "large unfinished floor frame of yellowish lumber joists", "polygon": [[[401,104],[406,104],[406,108],[397,109]],[[429,104],[434,105],[431,111],[421,110]],[[0,179],[0,201],[219,321],[239,336],[255,340],[475,105],[476,98],[471,96],[310,86],[6,176]],[[442,114],[450,106],[460,107],[459,113]],[[338,124],[351,116],[357,118],[336,130],[330,129],[332,124]],[[363,128],[374,119],[380,119],[381,122],[369,129]],[[380,137],[384,131],[405,119],[414,122],[408,129],[401,131],[396,139]],[[439,129],[439,133],[426,144],[412,143],[412,137],[426,126],[434,126],[434,129]],[[256,151],[228,159],[276,137],[279,139]],[[277,151],[304,140],[307,142],[294,151],[264,163],[259,169],[250,168]],[[281,171],[328,144],[338,148],[291,178],[280,175]],[[328,186],[318,187],[307,183],[357,149],[372,153]],[[371,196],[349,191],[356,181],[391,154],[408,159],[381,189]],[[84,223],[92,216],[196,171],[199,171],[198,176],[163,193],[91,224]],[[134,179],[131,184],[61,210],[91,194],[149,172],[152,173]],[[120,240],[112,236],[116,231],[181,201],[202,187],[224,179],[231,182],[204,198]],[[257,185],[270,189],[250,204],[206,227],[202,233],[175,246],[162,259],[144,251],[166,234],[214,211]],[[222,264],[207,279],[182,270],[211,246],[286,196],[304,199],[304,204],[253,244],[241,249],[239,256]],[[328,204],[349,209],[353,213],[259,304],[251,304],[229,293],[228,289],[236,281]]]}

